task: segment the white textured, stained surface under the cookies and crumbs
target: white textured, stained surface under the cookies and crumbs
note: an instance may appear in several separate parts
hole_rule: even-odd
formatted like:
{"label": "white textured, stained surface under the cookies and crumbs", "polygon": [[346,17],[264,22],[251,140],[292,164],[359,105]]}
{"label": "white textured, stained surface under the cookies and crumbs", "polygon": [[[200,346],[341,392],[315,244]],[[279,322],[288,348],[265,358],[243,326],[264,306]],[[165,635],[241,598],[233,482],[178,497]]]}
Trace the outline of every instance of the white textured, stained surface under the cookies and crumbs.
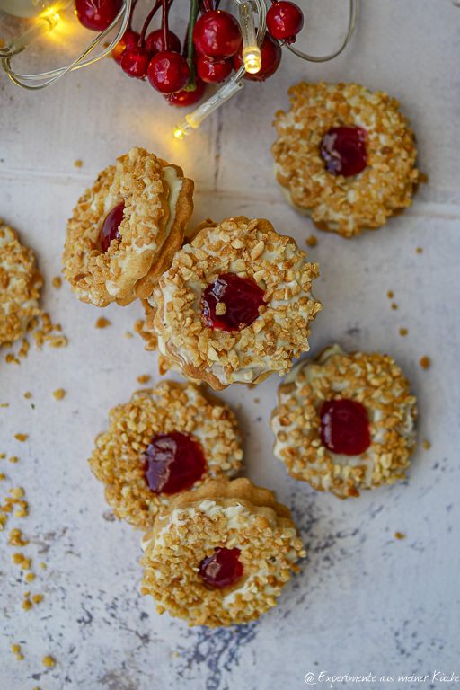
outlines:
{"label": "white textured, stained surface under the cookies and crumbs", "polygon": [[[340,6],[339,0],[308,5],[312,52],[332,48],[333,31],[345,20]],[[265,690],[305,687],[305,674],[321,670],[373,672],[376,683],[348,686],[380,690],[430,686],[428,680],[398,683],[400,674],[458,672],[459,38],[460,10],[448,0],[364,0],[356,38],[341,57],[315,66],[286,52],[270,82],[248,84],[183,143],[171,136],[182,113],[110,60],[38,94],[0,75],[0,216],[37,252],[46,281],[41,304],[69,340],[66,349],[32,347],[20,367],[5,364],[2,350],[0,402],[10,405],[0,409],[0,452],[20,458],[0,461],[7,477],[2,496],[21,485],[31,506],[29,517],[10,518],[0,535],[2,690]],[[40,49],[31,54],[40,57]],[[388,90],[417,133],[429,185],[409,212],[349,242],[315,232],[318,245],[309,257],[320,262],[315,295],[324,308],[311,345],[316,352],[339,341],[392,354],[420,400],[419,438],[432,447],[416,452],[407,483],[341,502],[294,482],[272,456],[268,420],[278,378],[253,390],[226,390],[223,399],[242,403],[247,475],[276,489],[293,509],[307,558],[279,606],[259,622],[235,633],[190,631],[156,615],[154,602],[139,595],[140,535],[107,520],[102,486],[86,464],[107,411],[128,401],[136,376],[158,379],[155,355],[137,336],[123,337],[142,316],[140,305],[102,312],[77,302],[66,285],[56,291],[51,279],[60,270],[75,200],[135,145],[182,165],[195,179],[197,221],[268,217],[304,246],[314,227],[282,201],[269,150],[273,112],[287,106],[288,85],[302,77]],[[84,162],[79,170],[75,159]],[[390,289],[396,311],[386,297]],[[112,325],[98,331],[102,314]],[[409,330],[405,338],[400,327]],[[425,355],[432,358],[428,371],[419,365]],[[52,392],[60,387],[66,397],[57,402]],[[17,432],[29,439],[19,443]],[[31,544],[7,545],[12,526]],[[396,540],[396,531],[406,537]],[[18,551],[32,558],[31,585],[11,561]],[[46,571],[38,568],[41,560]],[[45,598],[26,612],[21,601],[29,589]],[[13,643],[22,644],[22,661],[14,658]],[[55,668],[41,666],[45,654],[57,660]],[[378,682],[383,674],[394,683]]]}

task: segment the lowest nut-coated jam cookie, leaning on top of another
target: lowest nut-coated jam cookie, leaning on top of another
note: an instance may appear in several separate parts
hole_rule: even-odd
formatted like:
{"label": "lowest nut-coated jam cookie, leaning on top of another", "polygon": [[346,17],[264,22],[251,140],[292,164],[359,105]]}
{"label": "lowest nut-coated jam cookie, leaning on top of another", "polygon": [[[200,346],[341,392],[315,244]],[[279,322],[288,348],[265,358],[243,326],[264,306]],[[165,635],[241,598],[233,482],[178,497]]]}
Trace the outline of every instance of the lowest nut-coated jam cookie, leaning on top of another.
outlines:
{"label": "lowest nut-coated jam cookie, leaning on top of another", "polygon": [[286,506],[248,479],[207,482],[163,509],[142,540],[142,594],[191,625],[247,623],[276,606],[305,556]]}

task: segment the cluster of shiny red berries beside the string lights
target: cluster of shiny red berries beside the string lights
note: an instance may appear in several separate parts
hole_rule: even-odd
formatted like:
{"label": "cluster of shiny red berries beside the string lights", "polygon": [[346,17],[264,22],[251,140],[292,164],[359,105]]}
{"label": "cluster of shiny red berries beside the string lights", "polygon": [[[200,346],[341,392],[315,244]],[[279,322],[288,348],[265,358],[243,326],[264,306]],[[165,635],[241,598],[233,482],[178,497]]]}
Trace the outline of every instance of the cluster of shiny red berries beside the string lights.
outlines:
{"label": "cluster of shiny red berries beside the string lights", "polygon": [[[190,0],[193,2],[194,0]],[[281,47],[292,43],[304,25],[300,8],[289,0],[271,0],[267,13],[267,33],[261,45],[261,69],[244,77],[265,81],[281,61]],[[195,0],[201,16],[187,29],[184,52],[181,41],[168,27],[173,0],[155,0],[140,33],[131,28],[134,0],[128,29],[113,49],[113,57],[127,75],[148,79],[156,91],[174,105],[198,102],[206,84],[222,82],[243,65],[240,25],[230,13],[217,9],[219,0]],[[215,4],[213,4],[213,2]],[[75,0],[75,14],[87,29],[103,31],[113,22],[122,0]],[[162,28],[146,35],[155,13],[162,8]],[[191,35],[192,40],[189,40]]]}

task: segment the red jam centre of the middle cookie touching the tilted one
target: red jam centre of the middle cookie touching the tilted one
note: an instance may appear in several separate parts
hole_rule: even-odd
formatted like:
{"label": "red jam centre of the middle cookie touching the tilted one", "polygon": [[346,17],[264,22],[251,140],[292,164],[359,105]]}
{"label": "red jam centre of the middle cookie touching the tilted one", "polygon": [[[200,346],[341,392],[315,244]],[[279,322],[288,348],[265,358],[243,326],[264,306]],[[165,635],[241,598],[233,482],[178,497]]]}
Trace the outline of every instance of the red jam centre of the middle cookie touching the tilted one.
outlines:
{"label": "red jam centre of the middle cookie touching the tilted one", "polygon": [[201,297],[206,325],[216,331],[241,331],[259,316],[264,294],[252,280],[223,273]]}

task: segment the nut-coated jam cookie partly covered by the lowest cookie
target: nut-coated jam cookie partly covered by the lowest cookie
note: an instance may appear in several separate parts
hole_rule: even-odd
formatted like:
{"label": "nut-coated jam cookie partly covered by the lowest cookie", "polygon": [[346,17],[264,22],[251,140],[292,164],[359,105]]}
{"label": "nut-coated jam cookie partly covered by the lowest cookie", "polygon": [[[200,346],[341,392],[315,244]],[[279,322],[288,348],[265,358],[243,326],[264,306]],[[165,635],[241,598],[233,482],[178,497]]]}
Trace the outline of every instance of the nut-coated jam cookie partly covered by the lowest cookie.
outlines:
{"label": "nut-coated jam cookie partly covered by the lowest cookie", "polygon": [[119,518],[147,529],[180,491],[234,477],[242,433],[234,413],[194,384],[164,381],[109,414],[88,461]]}

